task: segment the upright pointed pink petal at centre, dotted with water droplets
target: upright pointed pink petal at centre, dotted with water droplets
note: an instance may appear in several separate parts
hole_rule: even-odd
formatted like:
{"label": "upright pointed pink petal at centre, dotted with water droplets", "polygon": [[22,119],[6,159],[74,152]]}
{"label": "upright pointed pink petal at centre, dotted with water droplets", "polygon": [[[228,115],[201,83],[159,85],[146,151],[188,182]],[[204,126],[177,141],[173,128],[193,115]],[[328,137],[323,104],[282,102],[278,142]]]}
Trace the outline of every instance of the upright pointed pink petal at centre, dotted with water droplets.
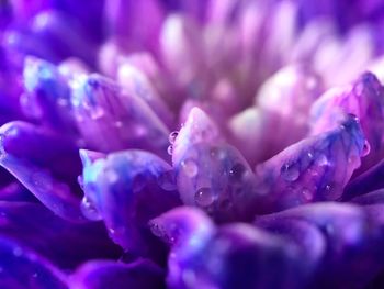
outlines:
{"label": "upright pointed pink petal at centre, dotted with water droplets", "polygon": [[219,222],[253,216],[252,170],[235,147],[219,142],[215,124],[203,111],[191,110],[172,151],[184,204],[197,205]]}

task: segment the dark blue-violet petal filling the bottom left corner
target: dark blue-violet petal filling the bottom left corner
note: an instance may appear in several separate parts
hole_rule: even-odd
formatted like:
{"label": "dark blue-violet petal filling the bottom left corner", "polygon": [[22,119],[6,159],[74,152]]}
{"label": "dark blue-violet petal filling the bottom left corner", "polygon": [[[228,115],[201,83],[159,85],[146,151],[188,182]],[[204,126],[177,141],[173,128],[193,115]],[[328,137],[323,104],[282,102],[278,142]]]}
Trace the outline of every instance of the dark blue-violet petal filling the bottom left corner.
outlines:
{"label": "dark blue-violet petal filling the bottom left corner", "polygon": [[0,237],[0,287],[66,289],[66,276],[50,263],[18,243]]}

